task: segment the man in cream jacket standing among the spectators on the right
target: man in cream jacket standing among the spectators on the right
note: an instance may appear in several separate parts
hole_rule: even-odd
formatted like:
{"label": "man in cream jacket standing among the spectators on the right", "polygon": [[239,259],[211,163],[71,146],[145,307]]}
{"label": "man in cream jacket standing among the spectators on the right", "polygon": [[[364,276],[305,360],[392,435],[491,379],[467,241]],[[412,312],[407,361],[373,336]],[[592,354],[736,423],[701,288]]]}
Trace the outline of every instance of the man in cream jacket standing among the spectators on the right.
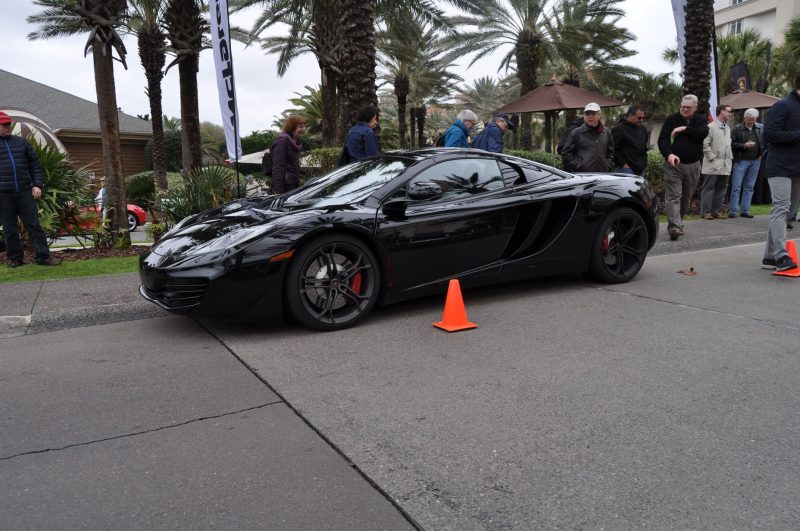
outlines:
{"label": "man in cream jacket standing among the spectators on the right", "polygon": [[708,125],[708,136],[703,141],[703,191],[700,193],[703,219],[722,219],[720,210],[733,166],[730,116],[730,105],[717,105],[717,118]]}

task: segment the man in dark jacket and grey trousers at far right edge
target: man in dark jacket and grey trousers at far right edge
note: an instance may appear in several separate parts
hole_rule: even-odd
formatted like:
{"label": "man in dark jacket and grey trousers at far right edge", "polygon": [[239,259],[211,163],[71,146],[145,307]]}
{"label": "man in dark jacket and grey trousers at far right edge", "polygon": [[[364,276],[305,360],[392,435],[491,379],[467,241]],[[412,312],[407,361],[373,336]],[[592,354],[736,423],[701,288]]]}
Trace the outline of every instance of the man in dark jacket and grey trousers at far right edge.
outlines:
{"label": "man in dark jacket and grey trousers at far right edge", "polygon": [[772,210],[761,265],[788,271],[798,266],[786,250],[786,218],[792,188],[800,186],[800,72],[794,78],[794,90],[767,113],[764,141],[769,144],[764,175],[769,180]]}

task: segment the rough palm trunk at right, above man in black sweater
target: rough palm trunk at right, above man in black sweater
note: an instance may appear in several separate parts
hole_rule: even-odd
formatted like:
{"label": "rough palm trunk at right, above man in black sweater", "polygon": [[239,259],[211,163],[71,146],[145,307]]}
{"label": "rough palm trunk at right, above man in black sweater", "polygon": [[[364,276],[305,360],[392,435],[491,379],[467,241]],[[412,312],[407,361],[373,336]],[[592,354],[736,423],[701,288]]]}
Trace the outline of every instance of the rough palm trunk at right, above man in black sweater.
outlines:
{"label": "rough palm trunk at right, above man in black sweater", "polygon": [[686,47],[683,93],[694,94],[697,112],[709,114],[711,98],[711,42],[714,34],[714,0],[686,0]]}

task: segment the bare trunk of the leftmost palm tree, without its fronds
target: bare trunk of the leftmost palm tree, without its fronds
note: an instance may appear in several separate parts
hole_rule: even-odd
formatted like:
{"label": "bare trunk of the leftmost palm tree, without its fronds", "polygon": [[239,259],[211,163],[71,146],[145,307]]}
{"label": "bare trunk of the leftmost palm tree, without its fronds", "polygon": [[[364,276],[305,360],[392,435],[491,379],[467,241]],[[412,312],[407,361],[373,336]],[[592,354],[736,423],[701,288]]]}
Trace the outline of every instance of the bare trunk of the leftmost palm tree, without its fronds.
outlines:
{"label": "bare trunk of the leftmost palm tree, without its fronds", "polygon": [[119,140],[119,114],[114,85],[114,60],[111,47],[98,41],[92,44],[94,83],[100,119],[100,142],[103,147],[103,170],[111,212],[111,241],[115,247],[130,247],[128,213],[125,197],[125,174],[122,169],[122,147]]}

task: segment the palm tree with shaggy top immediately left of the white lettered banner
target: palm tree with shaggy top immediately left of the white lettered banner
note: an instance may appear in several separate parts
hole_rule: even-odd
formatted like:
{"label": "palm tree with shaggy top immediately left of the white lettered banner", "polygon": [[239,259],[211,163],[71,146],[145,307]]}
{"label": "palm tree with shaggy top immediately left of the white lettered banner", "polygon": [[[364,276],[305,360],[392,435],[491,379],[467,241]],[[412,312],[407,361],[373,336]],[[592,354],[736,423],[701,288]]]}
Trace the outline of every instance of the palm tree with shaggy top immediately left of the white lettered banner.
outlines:
{"label": "palm tree with shaggy top immediately left of the white lettered banner", "polygon": [[[198,0],[168,0],[164,26],[178,65],[181,89],[181,140],[183,170],[189,172],[203,164],[200,138],[200,110],[197,96],[197,70],[203,35],[208,25],[200,16]],[[165,72],[166,73],[166,72]]]}

